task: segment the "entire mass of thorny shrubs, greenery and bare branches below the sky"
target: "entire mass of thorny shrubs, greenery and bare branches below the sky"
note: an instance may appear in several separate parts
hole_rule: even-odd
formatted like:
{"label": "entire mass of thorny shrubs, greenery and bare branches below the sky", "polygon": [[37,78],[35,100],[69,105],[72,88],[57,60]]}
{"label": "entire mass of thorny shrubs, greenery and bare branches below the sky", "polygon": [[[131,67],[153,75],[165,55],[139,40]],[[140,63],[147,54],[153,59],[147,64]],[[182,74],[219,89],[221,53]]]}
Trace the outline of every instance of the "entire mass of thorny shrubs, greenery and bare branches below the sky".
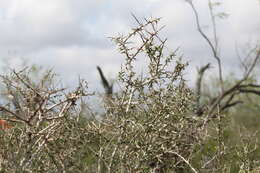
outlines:
{"label": "entire mass of thorny shrubs, greenery and bare branches below the sky", "polygon": [[[211,40],[193,2],[187,3],[218,64],[211,86],[204,81],[206,64],[196,88],[188,87],[188,64],[177,50],[165,49],[160,19],[133,16],[137,26],[112,38],[125,58],[119,92],[98,67],[106,91],[102,115],[84,101],[93,95],[84,80],[68,91],[55,73],[37,67],[0,76],[1,124],[8,122],[0,129],[0,172],[259,172],[260,85],[253,76],[259,45],[242,61],[243,76],[225,78],[216,28],[224,13],[215,14],[219,4],[209,0]],[[145,74],[136,69],[140,58]]]}

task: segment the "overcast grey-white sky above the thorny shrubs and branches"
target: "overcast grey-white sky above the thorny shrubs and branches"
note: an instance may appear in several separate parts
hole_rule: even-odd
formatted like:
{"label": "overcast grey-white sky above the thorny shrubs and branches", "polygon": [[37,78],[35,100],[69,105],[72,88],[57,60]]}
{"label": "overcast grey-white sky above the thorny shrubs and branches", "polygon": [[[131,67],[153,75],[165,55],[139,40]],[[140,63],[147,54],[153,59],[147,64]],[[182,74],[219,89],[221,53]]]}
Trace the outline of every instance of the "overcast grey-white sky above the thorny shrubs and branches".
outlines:
{"label": "overcast grey-white sky above the thorny shrubs and branches", "polygon": [[[219,38],[224,71],[236,70],[235,45],[259,41],[259,0],[222,0],[219,11],[230,14],[219,21]],[[194,0],[204,29],[210,24],[207,0]],[[162,17],[162,31],[172,50],[191,68],[214,62],[208,46],[196,31],[190,6],[184,0],[0,0],[1,64],[19,66],[21,58],[46,68],[52,67],[67,84],[78,75],[99,87],[96,65],[114,78],[123,62],[108,37],[126,33],[135,26],[131,17]],[[208,28],[208,29],[207,29]],[[98,80],[97,80],[98,79]]]}

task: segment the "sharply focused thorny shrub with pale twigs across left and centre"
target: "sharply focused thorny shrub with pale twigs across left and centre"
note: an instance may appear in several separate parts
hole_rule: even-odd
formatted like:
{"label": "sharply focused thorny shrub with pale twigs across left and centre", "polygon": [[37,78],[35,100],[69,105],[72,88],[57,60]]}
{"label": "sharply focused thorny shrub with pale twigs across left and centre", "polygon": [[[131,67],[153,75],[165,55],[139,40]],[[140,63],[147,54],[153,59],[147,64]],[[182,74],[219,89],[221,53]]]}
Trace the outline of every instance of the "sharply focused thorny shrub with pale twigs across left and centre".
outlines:
{"label": "sharply focused thorny shrub with pale twigs across left and centre", "polygon": [[[31,69],[1,76],[8,96],[0,106],[1,119],[12,128],[0,131],[0,172],[221,170],[224,163],[215,153],[224,132],[210,138],[207,125],[209,118],[225,120],[205,122],[195,113],[196,95],[183,79],[188,64],[177,50],[166,51],[159,19],[136,21],[138,27],[128,35],[112,38],[125,63],[121,90],[105,96],[102,119],[93,118],[101,115],[84,103],[91,95],[84,81],[67,91],[55,84],[51,71],[36,81]],[[140,59],[145,74],[136,68]]]}

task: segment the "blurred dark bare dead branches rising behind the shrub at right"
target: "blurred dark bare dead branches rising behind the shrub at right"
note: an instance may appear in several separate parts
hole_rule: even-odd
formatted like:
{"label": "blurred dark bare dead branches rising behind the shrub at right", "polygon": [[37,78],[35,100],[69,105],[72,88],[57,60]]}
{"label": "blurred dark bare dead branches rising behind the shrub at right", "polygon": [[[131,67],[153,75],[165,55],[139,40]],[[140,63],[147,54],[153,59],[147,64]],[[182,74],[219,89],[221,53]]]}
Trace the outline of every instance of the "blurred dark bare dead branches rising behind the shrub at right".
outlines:
{"label": "blurred dark bare dead branches rising behind the shrub at right", "polygon": [[[227,108],[230,108],[239,103],[242,103],[242,101],[239,101],[239,100],[233,101],[235,96],[237,96],[239,94],[252,93],[252,94],[259,95],[260,91],[256,90],[256,88],[259,88],[259,85],[245,84],[245,82],[249,79],[253,69],[255,68],[255,66],[259,60],[260,49],[259,49],[259,47],[255,47],[253,50],[249,51],[249,53],[247,54],[247,57],[246,57],[247,60],[249,58],[249,55],[252,55],[254,52],[256,53],[256,56],[252,59],[252,63],[248,64],[248,66],[245,68],[244,76],[230,88],[224,89],[223,77],[222,77],[222,65],[221,65],[221,58],[218,55],[218,40],[217,40],[217,34],[216,34],[216,23],[215,23],[215,16],[213,14],[212,3],[209,0],[209,9],[210,9],[210,15],[211,15],[211,20],[212,20],[212,25],[213,25],[213,34],[214,34],[213,41],[211,41],[209,39],[208,35],[206,35],[205,32],[202,30],[202,27],[200,25],[199,14],[193,4],[193,1],[186,0],[186,2],[191,6],[192,11],[194,12],[197,29],[198,29],[200,35],[206,40],[206,42],[210,46],[213,56],[217,60],[217,63],[218,63],[219,80],[220,80],[220,84],[221,84],[221,93],[220,93],[220,95],[212,98],[209,101],[210,106],[207,111],[207,116],[208,116],[207,118],[209,118],[209,117],[215,116],[215,113],[217,112],[218,108],[219,108],[218,111],[222,112],[222,111],[226,110]],[[213,44],[213,43],[215,43],[215,44]],[[243,64],[243,65],[245,65],[245,64]],[[207,69],[206,66],[205,66],[205,69]],[[205,71],[205,70],[204,71],[203,70],[204,69],[202,68],[199,71],[198,79],[197,79],[197,83],[196,83],[196,94],[197,94],[196,102],[197,102],[197,111],[199,113],[203,113],[203,111],[200,110],[200,107],[201,107],[200,106],[200,95],[201,95],[201,86],[200,85],[201,85],[202,75]],[[207,106],[207,105],[208,105],[208,103],[204,104],[204,106]],[[202,106],[202,107],[204,107],[204,106]],[[208,120],[206,120],[206,121],[208,121]]]}

